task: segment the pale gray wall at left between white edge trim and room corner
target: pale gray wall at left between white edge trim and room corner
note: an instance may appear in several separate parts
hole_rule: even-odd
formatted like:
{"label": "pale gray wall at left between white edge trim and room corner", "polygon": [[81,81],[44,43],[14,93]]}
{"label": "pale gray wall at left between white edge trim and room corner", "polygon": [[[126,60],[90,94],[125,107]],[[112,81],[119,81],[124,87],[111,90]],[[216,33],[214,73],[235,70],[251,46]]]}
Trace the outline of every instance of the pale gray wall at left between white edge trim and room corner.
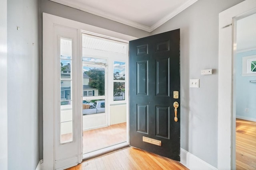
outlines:
{"label": "pale gray wall at left between white edge trim and room corner", "polygon": [[38,24],[38,0],[7,1],[9,170],[34,170],[39,161]]}

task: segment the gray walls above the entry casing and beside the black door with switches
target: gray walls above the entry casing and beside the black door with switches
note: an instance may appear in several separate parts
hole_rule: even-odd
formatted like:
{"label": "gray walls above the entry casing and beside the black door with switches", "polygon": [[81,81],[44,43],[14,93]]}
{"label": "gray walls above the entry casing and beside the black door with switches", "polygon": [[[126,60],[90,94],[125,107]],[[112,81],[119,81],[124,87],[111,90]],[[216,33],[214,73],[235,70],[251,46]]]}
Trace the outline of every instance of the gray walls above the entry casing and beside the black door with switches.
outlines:
{"label": "gray walls above the entry casing and beside the black door with switches", "polygon": [[[104,19],[49,0],[40,1],[40,158],[42,158],[42,12],[134,37],[180,28],[181,147],[217,167],[218,141],[218,14],[243,0],[199,0],[152,33]],[[213,68],[214,74],[200,75]],[[200,78],[200,88],[189,79]]]}

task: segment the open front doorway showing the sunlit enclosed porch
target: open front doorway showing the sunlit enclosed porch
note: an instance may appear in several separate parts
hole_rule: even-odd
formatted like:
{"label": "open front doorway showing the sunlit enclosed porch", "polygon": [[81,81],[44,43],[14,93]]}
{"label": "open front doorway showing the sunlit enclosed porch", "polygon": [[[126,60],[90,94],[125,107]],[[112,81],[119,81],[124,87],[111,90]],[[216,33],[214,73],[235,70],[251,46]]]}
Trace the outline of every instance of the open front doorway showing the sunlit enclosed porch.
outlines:
{"label": "open front doorway showing the sunlit enclosed porch", "polygon": [[82,32],[83,158],[129,145],[128,42]]}

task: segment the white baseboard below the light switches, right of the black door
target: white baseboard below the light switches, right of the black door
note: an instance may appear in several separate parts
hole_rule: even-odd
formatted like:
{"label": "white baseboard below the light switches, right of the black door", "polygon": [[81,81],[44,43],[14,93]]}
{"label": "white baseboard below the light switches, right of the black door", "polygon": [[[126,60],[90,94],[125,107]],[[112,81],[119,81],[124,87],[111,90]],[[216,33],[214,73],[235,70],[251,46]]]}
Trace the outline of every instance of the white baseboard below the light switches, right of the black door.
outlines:
{"label": "white baseboard below the light switches, right of the black door", "polygon": [[217,170],[214,166],[182,148],[180,148],[180,163],[190,170]]}

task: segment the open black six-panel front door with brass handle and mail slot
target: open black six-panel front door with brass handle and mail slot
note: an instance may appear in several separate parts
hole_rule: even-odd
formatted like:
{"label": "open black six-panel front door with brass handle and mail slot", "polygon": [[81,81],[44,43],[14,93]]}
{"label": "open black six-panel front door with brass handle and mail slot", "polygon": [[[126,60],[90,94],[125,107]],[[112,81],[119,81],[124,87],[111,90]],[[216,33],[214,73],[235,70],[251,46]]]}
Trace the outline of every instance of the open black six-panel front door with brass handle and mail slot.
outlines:
{"label": "open black six-panel front door with brass handle and mail slot", "polygon": [[130,146],[180,161],[180,29],[129,46]]}

